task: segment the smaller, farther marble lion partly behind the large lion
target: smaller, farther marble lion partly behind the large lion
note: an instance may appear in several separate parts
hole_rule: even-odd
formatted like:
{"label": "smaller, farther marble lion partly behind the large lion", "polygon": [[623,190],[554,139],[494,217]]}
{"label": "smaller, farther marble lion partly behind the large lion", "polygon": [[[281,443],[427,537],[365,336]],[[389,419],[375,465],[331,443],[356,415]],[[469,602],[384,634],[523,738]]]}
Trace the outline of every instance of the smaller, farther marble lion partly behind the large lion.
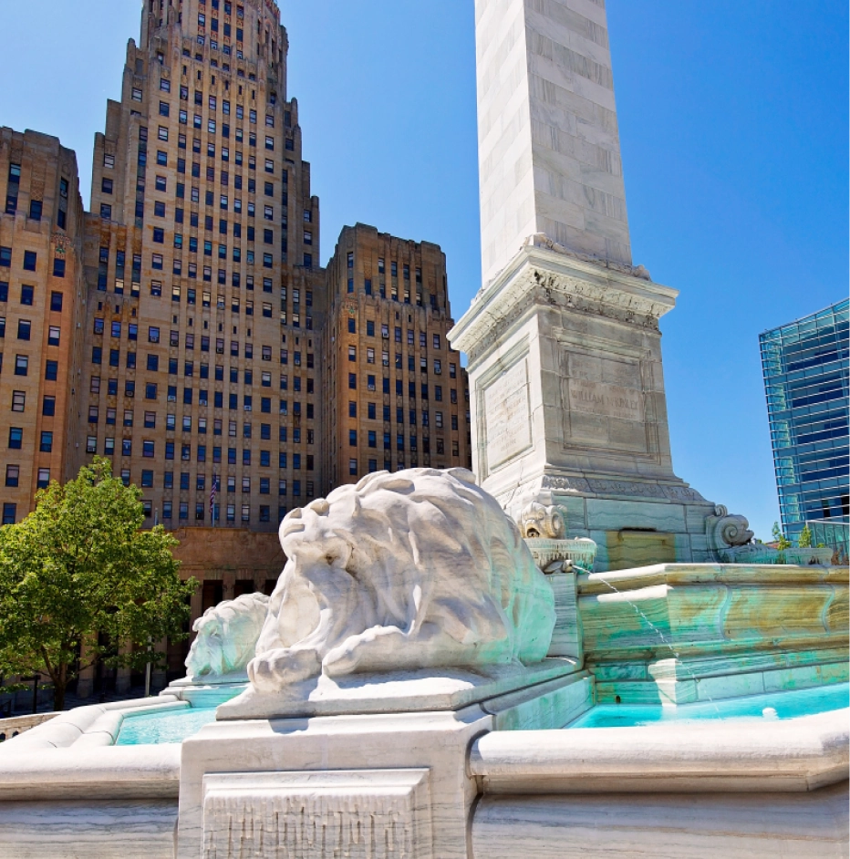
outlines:
{"label": "smaller, farther marble lion partly behind the large lion", "polygon": [[189,656],[189,678],[244,676],[268,613],[264,594],[244,594],[208,608],[192,629],[197,633]]}

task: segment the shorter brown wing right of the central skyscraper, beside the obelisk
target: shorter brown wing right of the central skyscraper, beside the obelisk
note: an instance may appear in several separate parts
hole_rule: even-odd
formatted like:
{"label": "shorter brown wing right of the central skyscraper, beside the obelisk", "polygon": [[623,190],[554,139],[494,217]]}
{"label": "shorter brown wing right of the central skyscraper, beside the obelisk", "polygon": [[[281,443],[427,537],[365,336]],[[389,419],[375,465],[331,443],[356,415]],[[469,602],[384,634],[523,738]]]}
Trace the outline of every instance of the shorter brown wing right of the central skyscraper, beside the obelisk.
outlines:
{"label": "shorter brown wing right of the central skyscraper, beside the obelisk", "polygon": [[340,234],[327,284],[328,488],[370,471],[472,468],[440,247],[358,223]]}

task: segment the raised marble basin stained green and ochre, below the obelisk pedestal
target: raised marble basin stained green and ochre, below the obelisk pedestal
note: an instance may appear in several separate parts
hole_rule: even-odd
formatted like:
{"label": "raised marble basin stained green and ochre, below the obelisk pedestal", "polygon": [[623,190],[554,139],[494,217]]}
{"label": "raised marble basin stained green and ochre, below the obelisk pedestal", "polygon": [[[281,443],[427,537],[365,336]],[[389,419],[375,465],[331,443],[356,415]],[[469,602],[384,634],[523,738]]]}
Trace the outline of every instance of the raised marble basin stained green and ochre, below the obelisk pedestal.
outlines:
{"label": "raised marble basin stained green and ochre, below the obelisk pedestal", "polygon": [[597,703],[688,704],[850,680],[850,568],[657,564],[577,581]]}

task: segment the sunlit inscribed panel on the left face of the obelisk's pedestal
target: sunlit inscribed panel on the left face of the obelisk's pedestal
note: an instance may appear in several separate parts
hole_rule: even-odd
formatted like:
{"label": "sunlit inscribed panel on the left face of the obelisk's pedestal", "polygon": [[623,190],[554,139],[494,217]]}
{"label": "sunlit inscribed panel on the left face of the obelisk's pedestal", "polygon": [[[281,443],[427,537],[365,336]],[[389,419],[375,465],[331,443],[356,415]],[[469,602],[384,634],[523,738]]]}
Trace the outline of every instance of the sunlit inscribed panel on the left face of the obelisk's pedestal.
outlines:
{"label": "sunlit inscribed panel on the left face of the obelisk's pedestal", "polygon": [[494,379],[483,399],[487,466],[493,471],[531,445],[527,359]]}

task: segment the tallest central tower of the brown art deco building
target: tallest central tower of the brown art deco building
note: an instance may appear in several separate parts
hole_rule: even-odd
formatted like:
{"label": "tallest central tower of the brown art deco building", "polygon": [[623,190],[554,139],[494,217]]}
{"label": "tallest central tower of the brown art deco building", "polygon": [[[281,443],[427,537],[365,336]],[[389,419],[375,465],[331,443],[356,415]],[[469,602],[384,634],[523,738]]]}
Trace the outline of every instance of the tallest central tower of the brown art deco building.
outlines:
{"label": "tallest central tower of the brown art deco building", "polygon": [[145,0],[95,140],[80,438],[150,523],[274,531],[320,482],[318,200],[271,0]]}

